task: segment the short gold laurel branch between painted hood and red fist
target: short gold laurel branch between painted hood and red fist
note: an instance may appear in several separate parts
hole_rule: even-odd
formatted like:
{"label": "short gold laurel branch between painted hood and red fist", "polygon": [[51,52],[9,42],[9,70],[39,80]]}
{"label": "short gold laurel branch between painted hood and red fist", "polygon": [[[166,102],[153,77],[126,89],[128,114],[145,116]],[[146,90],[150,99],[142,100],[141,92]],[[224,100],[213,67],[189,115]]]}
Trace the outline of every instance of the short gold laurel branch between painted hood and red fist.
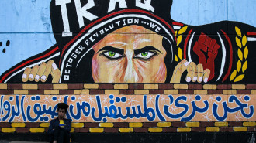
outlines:
{"label": "short gold laurel branch between painted hood and red fist", "polygon": [[182,60],[183,52],[182,48],[179,47],[179,45],[182,43],[182,34],[186,32],[188,29],[188,26],[182,27],[182,29],[179,29],[178,31],[175,31],[175,36],[177,37],[177,47],[178,47],[178,56],[175,55],[175,61],[178,62],[179,60]]}

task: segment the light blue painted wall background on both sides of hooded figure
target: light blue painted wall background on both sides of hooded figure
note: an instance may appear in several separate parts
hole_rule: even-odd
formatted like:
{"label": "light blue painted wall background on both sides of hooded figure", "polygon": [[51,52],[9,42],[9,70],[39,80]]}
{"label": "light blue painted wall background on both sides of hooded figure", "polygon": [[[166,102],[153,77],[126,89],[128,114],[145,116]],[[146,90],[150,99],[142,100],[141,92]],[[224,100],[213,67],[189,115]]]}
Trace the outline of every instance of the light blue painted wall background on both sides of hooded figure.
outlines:
{"label": "light blue painted wall background on both sides of hooded figure", "polygon": [[[30,56],[42,53],[56,41],[50,22],[50,0],[0,2],[0,74]],[[174,0],[171,18],[189,25],[204,25],[222,20],[256,26],[254,0]],[[5,43],[10,40],[10,46]],[[5,53],[3,53],[5,49]]]}

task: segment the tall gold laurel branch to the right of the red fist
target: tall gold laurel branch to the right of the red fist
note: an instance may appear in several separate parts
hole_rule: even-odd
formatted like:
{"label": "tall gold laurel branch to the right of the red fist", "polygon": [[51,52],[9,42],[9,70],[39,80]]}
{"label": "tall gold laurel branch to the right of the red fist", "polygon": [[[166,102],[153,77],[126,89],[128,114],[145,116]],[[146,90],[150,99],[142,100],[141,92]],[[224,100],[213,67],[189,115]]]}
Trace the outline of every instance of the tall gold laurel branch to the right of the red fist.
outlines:
{"label": "tall gold laurel branch to the right of the red fist", "polygon": [[244,72],[247,70],[248,62],[247,62],[247,56],[248,56],[248,48],[246,46],[247,44],[247,36],[242,36],[241,30],[236,26],[235,30],[237,32],[236,36],[236,43],[239,47],[237,49],[237,56],[239,60],[237,61],[237,69],[231,73],[230,81],[234,80],[234,83],[243,80],[244,79]]}

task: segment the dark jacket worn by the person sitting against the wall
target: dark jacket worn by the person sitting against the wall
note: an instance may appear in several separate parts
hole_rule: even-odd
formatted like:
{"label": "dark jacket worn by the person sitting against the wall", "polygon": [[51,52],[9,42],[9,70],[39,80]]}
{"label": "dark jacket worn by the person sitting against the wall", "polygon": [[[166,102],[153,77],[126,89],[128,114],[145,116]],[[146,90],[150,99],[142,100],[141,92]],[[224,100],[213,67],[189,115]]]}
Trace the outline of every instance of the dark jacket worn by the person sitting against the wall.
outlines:
{"label": "dark jacket worn by the person sitting against the wall", "polygon": [[[64,128],[63,130],[64,131],[67,131],[67,134],[69,135],[69,137],[71,138],[71,119],[66,119],[64,118],[63,119],[64,121]],[[59,124],[60,124],[60,121],[59,121],[59,118],[57,117],[56,119],[50,121],[50,126],[49,126],[49,129],[48,129],[48,134],[50,136],[50,142],[54,141],[54,128],[59,128]]]}

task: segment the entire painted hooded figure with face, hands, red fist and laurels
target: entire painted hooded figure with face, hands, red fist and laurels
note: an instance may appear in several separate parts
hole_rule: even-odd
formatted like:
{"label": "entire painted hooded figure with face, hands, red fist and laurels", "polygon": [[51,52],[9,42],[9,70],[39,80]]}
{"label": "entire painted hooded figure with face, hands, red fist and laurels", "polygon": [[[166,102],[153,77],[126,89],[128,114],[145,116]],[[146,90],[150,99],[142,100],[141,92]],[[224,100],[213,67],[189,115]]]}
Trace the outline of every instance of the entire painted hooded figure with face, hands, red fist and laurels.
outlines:
{"label": "entire painted hooded figure with face, hands, red fist and laurels", "polygon": [[171,5],[52,0],[57,44],[7,70],[0,83],[255,83],[255,27],[189,26],[171,19]]}

